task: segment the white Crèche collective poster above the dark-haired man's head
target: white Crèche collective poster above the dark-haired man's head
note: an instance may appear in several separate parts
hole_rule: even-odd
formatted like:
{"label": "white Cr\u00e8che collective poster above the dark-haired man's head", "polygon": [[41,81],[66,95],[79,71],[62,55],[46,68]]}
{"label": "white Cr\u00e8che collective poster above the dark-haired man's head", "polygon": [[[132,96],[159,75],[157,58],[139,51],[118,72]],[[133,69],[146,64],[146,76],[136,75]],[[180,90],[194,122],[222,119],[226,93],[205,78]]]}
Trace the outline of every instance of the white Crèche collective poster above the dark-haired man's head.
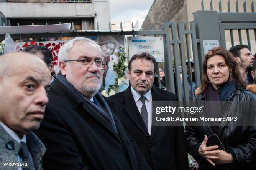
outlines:
{"label": "white Cr\u00e8che collective poster above the dark-haired man's head", "polygon": [[156,62],[164,62],[163,37],[128,37],[129,58],[143,52],[155,57]]}

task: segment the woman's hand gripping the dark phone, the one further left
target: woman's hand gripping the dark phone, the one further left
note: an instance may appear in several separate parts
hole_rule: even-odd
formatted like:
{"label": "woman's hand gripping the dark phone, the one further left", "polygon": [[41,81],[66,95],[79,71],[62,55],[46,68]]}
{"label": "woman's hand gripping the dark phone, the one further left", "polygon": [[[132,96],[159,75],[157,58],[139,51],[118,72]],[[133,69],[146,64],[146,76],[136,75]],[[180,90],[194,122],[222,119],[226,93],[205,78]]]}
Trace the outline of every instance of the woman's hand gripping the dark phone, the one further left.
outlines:
{"label": "woman's hand gripping the dark phone, the one further left", "polygon": [[220,150],[214,150],[218,149],[218,146],[206,146],[206,143],[208,141],[207,136],[205,135],[204,141],[202,141],[199,149],[198,149],[198,154],[201,155],[203,158],[205,158],[210,164],[215,166],[215,163],[212,160],[217,160],[219,159],[218,154],[220,154]]}

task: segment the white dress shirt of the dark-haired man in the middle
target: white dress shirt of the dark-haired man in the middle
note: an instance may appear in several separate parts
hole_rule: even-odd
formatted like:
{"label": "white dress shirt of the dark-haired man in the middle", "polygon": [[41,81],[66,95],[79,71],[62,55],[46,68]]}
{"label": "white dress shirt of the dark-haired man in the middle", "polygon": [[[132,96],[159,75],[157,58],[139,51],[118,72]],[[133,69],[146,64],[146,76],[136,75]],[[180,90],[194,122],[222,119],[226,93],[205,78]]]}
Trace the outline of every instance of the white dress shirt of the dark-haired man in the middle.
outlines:
{"label": "white dress shirt of the dark-haired man in the middle", "polygon": [[[133,99],[136,103],[136,106],[139,110],[139,112],[141,113],[141,107],[142,107],[142,102],[140,100],[141,98],[141,95],[136,92],[133,87],[131,87],[131,92],[133,94]],[[146,108],[147,108],[147,112],[148,112],[148,133],[149,135],[151,134],[151,124],[152,124],[152,95],[151,95],[151,90],[149,90],[148,92],[146,92],[144,94],[144,97],[146,97],[147,100],[145,100],[145,105],[146,105]]]}

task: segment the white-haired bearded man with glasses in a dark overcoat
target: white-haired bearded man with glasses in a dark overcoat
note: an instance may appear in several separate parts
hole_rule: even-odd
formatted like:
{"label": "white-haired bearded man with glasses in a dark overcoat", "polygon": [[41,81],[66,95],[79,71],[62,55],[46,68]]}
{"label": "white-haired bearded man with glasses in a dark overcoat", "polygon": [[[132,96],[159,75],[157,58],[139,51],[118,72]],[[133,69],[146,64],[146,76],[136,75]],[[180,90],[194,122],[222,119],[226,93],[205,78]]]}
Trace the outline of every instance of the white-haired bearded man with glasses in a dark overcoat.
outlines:
{"label": "white-haired bearded man with glasses in a dark overcoat", "polygon": [[46,170],[150,169],[115,116],[114,104],[98,92],[100,52],[96,42],[84,37],[70,40],[59,50],[58,78],[36,132],[47,148]]}

